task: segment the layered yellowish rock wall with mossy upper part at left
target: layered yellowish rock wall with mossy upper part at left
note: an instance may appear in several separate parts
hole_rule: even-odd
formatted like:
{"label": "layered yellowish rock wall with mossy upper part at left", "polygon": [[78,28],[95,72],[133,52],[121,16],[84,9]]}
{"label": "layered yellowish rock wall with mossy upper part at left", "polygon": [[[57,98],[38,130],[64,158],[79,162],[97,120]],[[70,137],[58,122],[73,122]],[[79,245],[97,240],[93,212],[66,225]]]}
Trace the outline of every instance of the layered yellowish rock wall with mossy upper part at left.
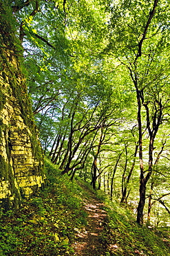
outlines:
{"label": "layered yellowish rock wall with mossy upper part at left", "polygon": [[10,208],[40,188],[45,175],[12,12],[0,3],[0,14],[0,205]]}

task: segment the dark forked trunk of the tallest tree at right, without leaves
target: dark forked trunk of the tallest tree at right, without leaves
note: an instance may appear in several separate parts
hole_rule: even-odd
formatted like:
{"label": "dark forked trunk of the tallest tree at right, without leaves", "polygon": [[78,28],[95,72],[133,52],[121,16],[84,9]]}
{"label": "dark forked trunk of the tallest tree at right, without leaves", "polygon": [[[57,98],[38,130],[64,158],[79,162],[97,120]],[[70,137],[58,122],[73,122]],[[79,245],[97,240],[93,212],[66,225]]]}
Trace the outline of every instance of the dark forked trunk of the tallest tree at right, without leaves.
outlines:
{"label": "dark forked trunk of the tallest tree at right, without leaves", "polygon": [[[145,88],[139,88],[139,86],[138,86],[139,78],[138,78],[138,73],[136,72],[136,64],[137,64],[138,58],[142,56],[142,45],[143,45],[143,42],[145,42],[145,38],[146,38],[146,35],[147,35],[147,30],[149,29],[149,26],[151,24],[151,20],[153,19],[154,13],[156,12],[157,4],[158,4],[158,0],[154,0],[153,1],[153,7],[151,8],[151,11],[149,12],[149,17],[147,19],[145,29],[143,31],[140,42],[138,43],[138,54],[136,55],[136,59],[134,60],[133,64],[131,64],[130,66],[127,67],[129,69],[129,72],[130,72],[131,80],[134,82],[134,86],[136,88],[136,98],[137,98],[137,102],[138,102],[138,136],[139,136],[138,138],[139,138],[139,160],[140,160],[140,189],[139,189],[140,201],[138,203],[137,222],[139,224],[143,223],[143,209],[144,209],[144,206],[145,206],[146,185],[147,185],[147,181],[149,180],[149,178],[151,176],[151,172],[152,172],[152,164],[151,164],[152,155],[150,154],[151,153],[151,151],[150,151],[151,148],[149,148],[149,170],[147,172],[147,176],[144,176],[144,167],[143,167],[143,158],[142,158],[142,118],[141,118],[141,106],[142,105],[147,110],[147,129],[149,131],[150,138],[151,138],[151,134],[150,134],[151,128],[150,128],[150,120],[149,120],[149,109],[147,107],[148,103],[144,102],[144,89]],[[158,102],[158,100],[155,100],[154,104],[156,105],[156,103],[158,103],[158,105],[161,106],[161,101]],[[158,112],[157,112],[157,109],[156,109],[155,115],[153,116],[153,131],[154,131],[153,140],[156,136],[156,132],[158,131],[158,127],[160,125],[162,110],[160,110],[160,115],[158,115],[159,117],[157,116],[157,113]],[[157,118],[158,118],[158,122],[156,122]],[[150,147],[150,145],[149,145],[149,147]]]}

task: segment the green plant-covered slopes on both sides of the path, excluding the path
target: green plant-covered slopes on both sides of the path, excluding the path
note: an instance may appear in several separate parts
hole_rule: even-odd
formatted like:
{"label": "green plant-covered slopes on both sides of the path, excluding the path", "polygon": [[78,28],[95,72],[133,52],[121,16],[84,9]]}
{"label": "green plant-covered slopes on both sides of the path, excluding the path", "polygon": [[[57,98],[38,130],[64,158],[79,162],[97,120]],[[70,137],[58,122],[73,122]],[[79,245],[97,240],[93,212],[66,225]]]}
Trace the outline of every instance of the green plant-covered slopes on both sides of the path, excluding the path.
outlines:
{"label": "green plant-covered slopes on both sides of the path, excluding the path", "polygon": [[[16,213],[2,214],[0,220],[0,256],[2,255],[74,255],[70,246],[74,233],[86,225],[83,197],[88,196],[76,182],[61,176],[49,161],[46,163],[50,185]],[[141,228],[128,209],[105,200],[109,215],[107,232],[103,239],[109,246],[109,255],[170,255],[169,232]],[[76,230],[74,230],[76,229]],[[164,241],[163,241],[164,240]]]}

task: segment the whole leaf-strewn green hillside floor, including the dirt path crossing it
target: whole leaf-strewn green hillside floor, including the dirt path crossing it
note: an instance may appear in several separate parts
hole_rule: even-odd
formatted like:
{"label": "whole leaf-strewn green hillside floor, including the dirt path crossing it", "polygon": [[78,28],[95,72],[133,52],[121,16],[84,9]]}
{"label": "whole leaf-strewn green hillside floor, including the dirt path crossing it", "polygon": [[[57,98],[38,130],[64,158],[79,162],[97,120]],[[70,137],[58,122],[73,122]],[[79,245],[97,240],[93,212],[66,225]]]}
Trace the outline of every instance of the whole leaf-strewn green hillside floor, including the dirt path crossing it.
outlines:
{"label": "whole leaf-strewn green hillside floor, including the dirt path crossing it", "polygon": [[0,256],[170,255],[169,230],[141,228],[128,209],[46,165],[50,185],[1,214]]}

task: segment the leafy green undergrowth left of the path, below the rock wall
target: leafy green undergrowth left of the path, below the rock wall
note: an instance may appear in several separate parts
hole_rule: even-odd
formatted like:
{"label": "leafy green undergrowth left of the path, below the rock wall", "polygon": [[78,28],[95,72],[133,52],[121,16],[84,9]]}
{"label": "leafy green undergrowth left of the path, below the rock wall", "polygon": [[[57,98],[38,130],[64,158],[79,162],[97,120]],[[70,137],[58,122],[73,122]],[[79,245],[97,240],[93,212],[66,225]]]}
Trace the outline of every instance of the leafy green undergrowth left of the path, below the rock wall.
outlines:
{"label": "leafy green undergrowth left of the path, below the rock wall", "polygon": [[0,256],[74,255],[74,228],[86,225],[82,189],[45,162],[47,188],[23,200],[16,212],[1,213]]}

